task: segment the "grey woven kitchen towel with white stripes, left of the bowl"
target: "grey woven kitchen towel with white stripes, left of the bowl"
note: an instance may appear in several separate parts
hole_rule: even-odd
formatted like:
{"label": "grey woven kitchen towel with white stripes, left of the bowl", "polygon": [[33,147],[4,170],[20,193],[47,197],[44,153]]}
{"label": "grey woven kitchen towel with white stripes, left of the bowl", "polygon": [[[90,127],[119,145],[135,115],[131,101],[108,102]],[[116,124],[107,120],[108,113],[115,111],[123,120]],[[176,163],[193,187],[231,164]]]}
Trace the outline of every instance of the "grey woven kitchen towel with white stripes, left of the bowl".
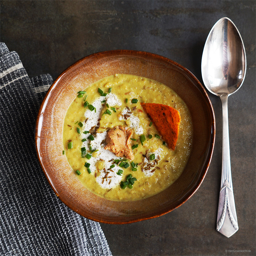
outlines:
{"label": "grey woven kitchen towel with white stripes, left of the bowl", "polygon": [[37,160],[35,121],[51,83],[29,79],[0,43],[0,255],[111,255],[100,224],[57,198]]}

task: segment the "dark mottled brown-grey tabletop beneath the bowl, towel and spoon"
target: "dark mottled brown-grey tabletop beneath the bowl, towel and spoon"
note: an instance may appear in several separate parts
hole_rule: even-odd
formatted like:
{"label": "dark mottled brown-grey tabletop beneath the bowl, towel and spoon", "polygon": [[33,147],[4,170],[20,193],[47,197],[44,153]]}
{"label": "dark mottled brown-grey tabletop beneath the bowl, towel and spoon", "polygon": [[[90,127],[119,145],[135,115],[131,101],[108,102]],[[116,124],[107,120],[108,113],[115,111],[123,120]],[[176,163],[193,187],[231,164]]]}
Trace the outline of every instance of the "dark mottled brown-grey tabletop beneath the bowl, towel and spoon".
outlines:
{"label": "dark mottled brown-grey tabletop beneath the bowl, towel and spoon", "polygon": [[[229,98],[230,154],[239,230],[216,231],[221,178],[221,102],[212,162],[198,191],[159,218],[101,224],[113,255],[256,255],[255,251],[255,1],[4,1],[1,42],[17,51],[30,77],[53,79],[76,60],[99,51],[143,50],[168,57],[202,82],[201,57],[212,26],[222,17],[237,26],[247,72]],[[215,191],[215,192],[214,192]],[[233,251],[234,250],[234,251]]]}

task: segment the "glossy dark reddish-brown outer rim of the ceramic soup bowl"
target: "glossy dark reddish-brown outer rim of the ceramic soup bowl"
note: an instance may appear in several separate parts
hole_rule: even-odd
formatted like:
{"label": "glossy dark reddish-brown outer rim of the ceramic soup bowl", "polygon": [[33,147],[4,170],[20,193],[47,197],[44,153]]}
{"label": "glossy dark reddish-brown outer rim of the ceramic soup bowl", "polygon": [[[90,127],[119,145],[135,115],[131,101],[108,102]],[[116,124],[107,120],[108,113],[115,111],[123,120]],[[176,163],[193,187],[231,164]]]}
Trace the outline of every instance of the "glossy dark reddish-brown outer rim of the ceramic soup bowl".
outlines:
{"label": "glossy dark reddish-brown outer rim of the ceramic soup bowl", "polygon": [[[201,168],[202,171],[201,171],[200,179],[198,179],[198,182],[190,190],[189,195],[186,195],[181,202],[175,204],[173,207],[169,208],[168,210],[162,211],[159,214],[154,214],[152,216],[142,217],[142,218],[137,217],[133,220],[128,220],[128,221],[113,222],[113,221],[106,221],[106,220],[99,219],[99,218],[94,218],[94,217],[91,217],[91,216],[86,216],[86,214],[80,213],[79,211],[77,211],[76,209],[74,209],[70,206],[70,203],[65,198],[65,196],[62,197],[61,195],[58,194],[58,192],[56,191],[56,189],[54,187],[54,184],[52,183],[50,177],[48,176],[47,170],[45,170],[44,165],[43,165],[43,163],[41,161],[41,158],[40,158],[40,140],[38,142],[38,138],[39,138],[39,136],[38,136],[38,134],[39,134],[38,127],[39,127],[40,116],[43,114],[43,109],[45,108],[45,106],[48,103],[48,97],[51,94],[51,91],[54,89],[55,84],[59,82],[59,80],[61,79],[61,77],[63,75],[65,75],[74,66],[78,65],[79,63],[83,62],[86,59],[93,59],[95,57],[96,58],[98,58],[98,57],[113,57],[113,56],[118,56],[118,55],[126,55],[126,56],[130,56],[130,57],[131,56],[134,56],[134,57],[149,57],[150,60],[157,60],[157,61],[161,61],[161,62],[167,62],[167,63],[169,63],[171,65],[174,65],[174,66],[178,67],[179,69],[183,70],[184,73],[182,73],[182,74],[184,76],[186,76],[189,80],[191,80],[191,79],[194,80],[193,82],[197,85],[197,88],[200,90],[200,92],[201,92],[202,96],[204,97],[205,101],[209,104],[209,110],[210,110],[209,120],[211,120],[212,125],[211,125],[211,128],[209,128],[209,130],[211,130],[211,136],[210,136],[210,141],[209,141],[208,153],[205,157],[206,161],[204,162],[203,167]],[[134,223],[134,222],[141,221],[141,220],[156,218],[156,217],[162,216],[166,213],[169,213],[169,212],[173,211],[174,209],[178,208],[179,206],[181,206],[182,204],[184,204],[192,195],[194,195],[194,193],[199,189],[200,185],[202,184],[202,182],[203,182],[203,180],[206,176],[206,173],[208,171],[208,168],[209,168],[209,165],[210,165],[210,162],[211,162],[211,159],[212,159],[212,155],[213,155],[213,149],[214,149],[214,144],[215,144],[215,133],[216,133],[215,115],[214,115],[214,109],[213,109],[212,103],[210,101],[210,98],[209,98],[206,90],[204,89],[203,85],[200,83],[200,81],[188,69],[186,69],[185,67],[183,67],[179,63],[177,63],[177,62],[175,62],[175,61],[173,61],[173,60],[171,60],[167,57],[164,57],[164,56],[161,56],[161,55],[158,55],[158,54],[155,54],[155,53],[150,53],[150,52],[145,52],[145,51],[137,51],[137,50],[108,50],[108,51],[96,52],[96,53],[87,55],[87,56],[75,61],[73,64],[71,64],[66,69],[64,69],[58,75],[58,77],[53,81],[53,83],[51,84],[51,86],[47,90],[47,92],[46,92],[46,94],[45,94],[45,96],[44,96],[44,98],[43,98],[43,100],[40,104],[39,110],[38,110],[38,114],[37,114],[37,118],[36,118],[36,125],[35,125],[35,147],[36,147],[37,158],[39,160],[40,166],[41,166],[41,168],[42,168],[42,170],[43,170],[51,188],[53,189],[53,191],[57,195],[57,197],[66,206],[68,206],[74,212],[82,215],[85,218],[91,219],[93,221],[97,221],[97,222],[101,222],[101,223],[107,223],[107,224],[127,224],[127,223]]]}

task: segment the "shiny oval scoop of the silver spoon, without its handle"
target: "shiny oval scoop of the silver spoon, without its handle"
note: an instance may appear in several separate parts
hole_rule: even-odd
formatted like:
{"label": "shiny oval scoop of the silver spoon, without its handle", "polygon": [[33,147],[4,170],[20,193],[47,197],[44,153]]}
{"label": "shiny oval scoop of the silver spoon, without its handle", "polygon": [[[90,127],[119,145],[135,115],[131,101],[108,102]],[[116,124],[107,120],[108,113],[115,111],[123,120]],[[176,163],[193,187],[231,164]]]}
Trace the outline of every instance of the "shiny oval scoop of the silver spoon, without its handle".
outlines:
{"label": "shiny oval scoop of the silver spoon, without its handle", "polygon": [[213,94],[232,94],[243,84],[246,73],[244,43],[235,24],[221,18],[211,29],[202,55],[202,78]]}

